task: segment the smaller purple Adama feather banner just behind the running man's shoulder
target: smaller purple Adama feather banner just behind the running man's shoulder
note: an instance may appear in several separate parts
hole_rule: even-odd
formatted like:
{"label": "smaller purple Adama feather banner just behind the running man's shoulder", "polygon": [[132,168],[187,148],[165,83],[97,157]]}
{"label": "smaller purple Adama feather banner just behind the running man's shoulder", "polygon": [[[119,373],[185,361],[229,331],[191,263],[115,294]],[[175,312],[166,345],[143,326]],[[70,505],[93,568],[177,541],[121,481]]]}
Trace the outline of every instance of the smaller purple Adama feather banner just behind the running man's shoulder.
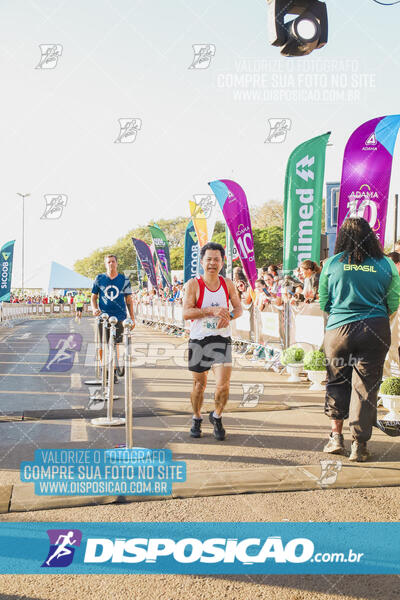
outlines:
{"label": "smaller purple Adama feather banner just behind the running man's shoulder", "polygon": [[238,183],[230,179],[217,179],[208,185],[217,197],[226,224],[238,249],[244,272],[254,290],[257,269],[246,194]]}

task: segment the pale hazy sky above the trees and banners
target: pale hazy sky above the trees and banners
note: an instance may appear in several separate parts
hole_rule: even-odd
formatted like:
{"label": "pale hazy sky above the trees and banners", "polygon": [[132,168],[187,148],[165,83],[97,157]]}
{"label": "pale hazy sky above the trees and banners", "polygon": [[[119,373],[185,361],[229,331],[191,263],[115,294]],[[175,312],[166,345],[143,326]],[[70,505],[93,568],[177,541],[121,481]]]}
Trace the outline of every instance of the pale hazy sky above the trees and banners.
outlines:
{"label": "pale hazy sky above the trees and banners", "polygon": [[[282,199],[290,152],[328,130],[326,180],[340,179],[352,130],[400,112],[400,5],[327,7],[327,46],[288,59],[268,43],[265,0],[4,3],[0,238],[17,240],[13,285],[16,192],[31,193],[29,286],[49,260],[72,267],[149,219],[189,216],[188,200],[208,193],[210,180],[235,179],[250,205]],[[61,44],[62,56],[55,69],[35,69],[46,43]],[[196,43],[216,46],[208,69],[188,68]],[[114,143],[124,117],[142,120],[133,144]],[[282,117],[292,121],[286,141],[264,143],[268,119]],[[399,150],[392,193],[400,192]],[[41,220],[52,193],[67,194],[67,207],[60,220]]]}

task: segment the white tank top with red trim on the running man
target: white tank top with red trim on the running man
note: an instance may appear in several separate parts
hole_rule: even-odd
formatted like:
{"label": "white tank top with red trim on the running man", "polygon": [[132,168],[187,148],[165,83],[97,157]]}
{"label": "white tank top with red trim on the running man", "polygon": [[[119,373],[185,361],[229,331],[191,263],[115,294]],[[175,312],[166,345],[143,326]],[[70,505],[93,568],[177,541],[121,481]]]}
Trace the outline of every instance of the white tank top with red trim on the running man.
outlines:
{"label": "white tank top with red trim on the running man", "polygon": [[[229,309],[229,293],[225,279],[219,276],[219,288],[213,292],[210,290],[202,277],[196,277],[200,286],[200,295],[196,303],[196,308],[207,308],[208,306],[222,306]],[[219,317],[204,317],[203,319],[194,319],[190,324],[190,339],[203,340],[211,335],[221,335],[230,337],[231,326],[217,329]]]}

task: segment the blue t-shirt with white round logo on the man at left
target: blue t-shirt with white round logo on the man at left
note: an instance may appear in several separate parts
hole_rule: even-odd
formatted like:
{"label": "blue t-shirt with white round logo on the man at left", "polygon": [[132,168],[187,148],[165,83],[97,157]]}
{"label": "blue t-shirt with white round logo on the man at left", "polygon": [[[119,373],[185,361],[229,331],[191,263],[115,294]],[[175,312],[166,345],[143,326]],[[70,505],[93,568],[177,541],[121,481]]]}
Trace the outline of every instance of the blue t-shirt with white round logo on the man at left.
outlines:
{"label": "blue t-shirt with white round logo on the man at left", "polygon": [[132,294],[130,281],[118,273],[111,279],[106,273],[97,275],[93,283],[92,294],[99,296],[99,308],[110,317],[123,321],[127,317],[125,296]]}

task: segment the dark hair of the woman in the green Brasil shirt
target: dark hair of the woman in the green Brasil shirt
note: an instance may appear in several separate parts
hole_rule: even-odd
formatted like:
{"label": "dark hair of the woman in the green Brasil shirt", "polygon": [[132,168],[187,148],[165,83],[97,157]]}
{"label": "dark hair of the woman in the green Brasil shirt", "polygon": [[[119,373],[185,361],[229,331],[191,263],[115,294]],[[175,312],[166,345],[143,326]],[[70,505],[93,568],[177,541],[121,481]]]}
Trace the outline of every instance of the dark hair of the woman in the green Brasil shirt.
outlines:
{"label": "dark hair of the woman in the green Brasil shirt", "polygon": [[349,261],[356,265],[366,258],[383,258],[382,246],[368,221],[361,217],[346,219],[339,229],[335,254],[345,252]]}

